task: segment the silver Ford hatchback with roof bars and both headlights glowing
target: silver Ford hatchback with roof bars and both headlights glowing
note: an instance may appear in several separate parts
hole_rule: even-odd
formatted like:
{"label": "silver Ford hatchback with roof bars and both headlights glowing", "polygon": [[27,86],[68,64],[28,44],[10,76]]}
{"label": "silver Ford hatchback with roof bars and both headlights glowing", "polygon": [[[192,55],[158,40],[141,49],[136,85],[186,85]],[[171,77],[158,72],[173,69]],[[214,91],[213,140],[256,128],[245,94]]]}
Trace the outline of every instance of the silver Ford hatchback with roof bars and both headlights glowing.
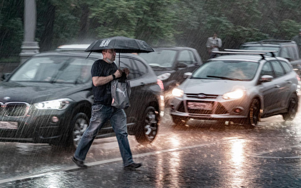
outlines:
{"label": "silver Ford hatchback with roof bars and both headlights glowing", "polygon": [[257,54],[220,56],[197,69],[173,90],[174,123],[202,119],[253,126],[260,118],[278,114],[292,120],[299,77],[286,59]]}

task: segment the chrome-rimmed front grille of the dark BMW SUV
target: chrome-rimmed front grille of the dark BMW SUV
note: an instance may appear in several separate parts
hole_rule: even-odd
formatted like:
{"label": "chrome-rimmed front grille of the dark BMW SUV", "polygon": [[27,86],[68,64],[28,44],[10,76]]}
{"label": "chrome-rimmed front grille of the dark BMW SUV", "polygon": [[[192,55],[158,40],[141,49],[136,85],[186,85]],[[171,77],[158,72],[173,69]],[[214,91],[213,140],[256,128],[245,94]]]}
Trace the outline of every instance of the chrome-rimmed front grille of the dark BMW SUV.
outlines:
{"label": "chrome-rimmed front grille of the dark BMW SUV", "polygon": [[7,102],[1,104],[0,116],[24,117],[27,115],[30,104],[25,102]]}

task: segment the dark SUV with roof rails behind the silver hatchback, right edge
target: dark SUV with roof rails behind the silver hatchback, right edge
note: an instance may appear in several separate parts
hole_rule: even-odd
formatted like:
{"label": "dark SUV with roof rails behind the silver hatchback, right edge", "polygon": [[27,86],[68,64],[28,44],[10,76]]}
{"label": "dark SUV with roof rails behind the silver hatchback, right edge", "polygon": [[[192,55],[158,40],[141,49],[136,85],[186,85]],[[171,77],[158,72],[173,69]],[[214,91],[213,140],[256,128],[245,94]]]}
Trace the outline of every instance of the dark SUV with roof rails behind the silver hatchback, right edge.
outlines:
{"label": "dark SUV with roof rails behind the silver hatchback, right edge", "polygon": [[[294,41],[284,40],[263,40],[259,42],[244,43],[240,47],[241,50],[273,50],[277,51],[275,56],[287,59],[294,71],[300,75],[301,73],[301,59],[299,57],[298,46]],[[267,53],[269,56],[270,53]]]}

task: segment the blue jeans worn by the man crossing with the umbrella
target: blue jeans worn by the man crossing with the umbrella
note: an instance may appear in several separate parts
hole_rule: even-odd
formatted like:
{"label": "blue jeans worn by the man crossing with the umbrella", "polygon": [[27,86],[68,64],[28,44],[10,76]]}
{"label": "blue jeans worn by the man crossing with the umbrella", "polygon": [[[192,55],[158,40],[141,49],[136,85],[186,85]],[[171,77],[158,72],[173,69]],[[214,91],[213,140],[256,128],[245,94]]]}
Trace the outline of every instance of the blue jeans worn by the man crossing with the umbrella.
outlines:
{"label": "blue jeans worn by the man crossing with the umbrella", "polygon": [[124,110],[102,104],[92,106],[90,124],[85,130],[74,153],[74,157],[77,160],[85,160],[97,132],[108,120],[110,120],[116,134],[123,165],[127,166],[133,163],[127,139],[126,115]]}

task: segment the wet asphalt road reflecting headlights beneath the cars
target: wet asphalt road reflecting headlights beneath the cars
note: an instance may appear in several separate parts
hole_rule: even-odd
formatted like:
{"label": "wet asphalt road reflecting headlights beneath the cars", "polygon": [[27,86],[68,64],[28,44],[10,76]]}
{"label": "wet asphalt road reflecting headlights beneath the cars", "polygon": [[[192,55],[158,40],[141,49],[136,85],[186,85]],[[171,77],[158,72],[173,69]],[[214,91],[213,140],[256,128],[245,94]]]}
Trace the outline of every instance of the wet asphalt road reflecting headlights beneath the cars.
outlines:
{"label": "wet asphalt road reflecting headlights beneath the cars", "polygon": [[115,137],[95,140],[87,169],[72,149],[0,142],[0,187],[301,187],[301,113],[256,128],[190,121],[175,127],[168,110],[154,143],[129,136],[136,162],[124,170]]}

